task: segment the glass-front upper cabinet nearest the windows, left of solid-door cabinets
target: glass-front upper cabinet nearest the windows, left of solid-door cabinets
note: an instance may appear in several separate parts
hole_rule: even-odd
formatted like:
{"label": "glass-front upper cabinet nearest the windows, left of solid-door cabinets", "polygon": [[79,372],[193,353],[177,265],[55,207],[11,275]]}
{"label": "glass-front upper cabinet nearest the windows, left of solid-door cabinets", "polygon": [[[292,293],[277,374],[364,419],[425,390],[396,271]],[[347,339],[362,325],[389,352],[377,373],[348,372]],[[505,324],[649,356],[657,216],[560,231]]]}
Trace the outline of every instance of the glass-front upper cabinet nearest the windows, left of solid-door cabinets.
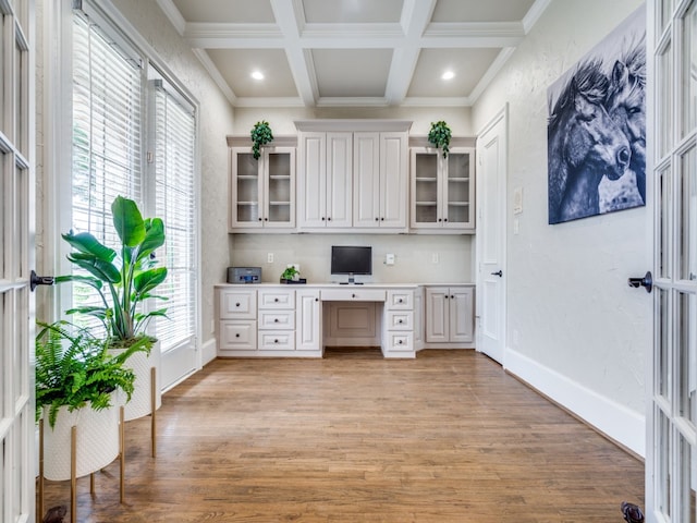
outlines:
{"label": "glass-front upper cabinet nearest the windows, left of solid-door cabinets", "polygon": [[230,230],[295,227],[295,148],[230,149]]}

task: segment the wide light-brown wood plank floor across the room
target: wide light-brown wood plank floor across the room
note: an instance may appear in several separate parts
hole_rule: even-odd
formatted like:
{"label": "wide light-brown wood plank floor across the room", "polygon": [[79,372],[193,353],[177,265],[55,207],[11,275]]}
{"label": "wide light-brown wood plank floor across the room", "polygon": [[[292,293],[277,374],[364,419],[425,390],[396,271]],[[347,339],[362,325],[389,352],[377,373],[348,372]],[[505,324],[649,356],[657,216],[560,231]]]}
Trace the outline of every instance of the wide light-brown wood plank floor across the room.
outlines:
{"label": "wide light-brown wood plank floor across the room", "polygon": [[[622,522],[644,465],[474,351],[217,360],[78,481],[81,522]],[[70,482],[46,484],[45,507]]]}

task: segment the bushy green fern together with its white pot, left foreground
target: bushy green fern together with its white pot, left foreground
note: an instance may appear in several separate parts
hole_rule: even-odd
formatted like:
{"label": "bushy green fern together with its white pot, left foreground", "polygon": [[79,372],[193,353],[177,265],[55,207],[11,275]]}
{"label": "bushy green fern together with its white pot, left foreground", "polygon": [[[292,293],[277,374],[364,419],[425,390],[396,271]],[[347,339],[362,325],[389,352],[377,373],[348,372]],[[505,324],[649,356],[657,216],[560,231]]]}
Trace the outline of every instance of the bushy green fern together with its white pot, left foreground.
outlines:
{"label": "bushy green fern together with its white pot, left foreground", "polygon": [[76,476],[119,454],[119,393],[131,398],[135,374],[125,362],[145,346],[111,354],[106,340],[68,321],[38,324],[35,340],[36,417],[44,429],[44,477],[71,478],[71,429],[76,426]]}

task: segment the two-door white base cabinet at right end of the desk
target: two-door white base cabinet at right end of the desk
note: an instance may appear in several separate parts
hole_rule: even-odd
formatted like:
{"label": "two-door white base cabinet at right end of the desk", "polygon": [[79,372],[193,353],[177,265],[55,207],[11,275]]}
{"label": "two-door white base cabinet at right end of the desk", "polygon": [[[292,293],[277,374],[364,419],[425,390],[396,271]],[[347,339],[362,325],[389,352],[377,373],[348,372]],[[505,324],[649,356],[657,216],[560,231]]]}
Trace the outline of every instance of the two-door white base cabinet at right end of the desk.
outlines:
{"label": "two-door white base cabinet at right end of the desk", "polygon": [[426,346],[472,346],[475,339],[474,303],[473,285],[427,287]]}

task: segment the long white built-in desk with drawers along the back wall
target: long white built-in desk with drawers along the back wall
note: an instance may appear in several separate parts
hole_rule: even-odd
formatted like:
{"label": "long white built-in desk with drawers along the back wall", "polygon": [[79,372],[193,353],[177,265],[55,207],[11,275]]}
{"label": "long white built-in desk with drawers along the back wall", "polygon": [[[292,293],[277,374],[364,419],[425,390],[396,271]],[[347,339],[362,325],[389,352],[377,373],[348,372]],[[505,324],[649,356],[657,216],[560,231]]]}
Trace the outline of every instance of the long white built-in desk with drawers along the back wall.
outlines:
{"label": "long white built-in desk with drawers along the back wall", "polygon": [[447,287],[470,300],[461,320],[469,326],[469,338],[449,343],[431,336],[433,314],[425,296],[442,287],[221,283],[216,285],[218,356],[322,357],[325,346],[379,345],[384,357],[413,358],[426,348],[474,346],[473,284]]}

